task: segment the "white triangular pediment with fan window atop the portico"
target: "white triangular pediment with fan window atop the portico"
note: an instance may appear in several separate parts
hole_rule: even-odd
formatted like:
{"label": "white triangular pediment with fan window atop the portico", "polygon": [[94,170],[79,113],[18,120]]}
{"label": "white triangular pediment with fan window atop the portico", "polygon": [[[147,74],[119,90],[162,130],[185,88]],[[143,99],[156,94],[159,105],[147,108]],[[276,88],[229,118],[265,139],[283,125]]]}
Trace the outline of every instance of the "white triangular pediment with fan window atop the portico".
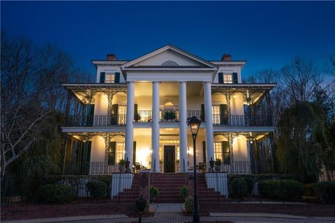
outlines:
{"label": "white triangular pediment with fan window atop the portico", "polygon": [[122,68],[214,68],[214,64],[172,45],[125,63]]}

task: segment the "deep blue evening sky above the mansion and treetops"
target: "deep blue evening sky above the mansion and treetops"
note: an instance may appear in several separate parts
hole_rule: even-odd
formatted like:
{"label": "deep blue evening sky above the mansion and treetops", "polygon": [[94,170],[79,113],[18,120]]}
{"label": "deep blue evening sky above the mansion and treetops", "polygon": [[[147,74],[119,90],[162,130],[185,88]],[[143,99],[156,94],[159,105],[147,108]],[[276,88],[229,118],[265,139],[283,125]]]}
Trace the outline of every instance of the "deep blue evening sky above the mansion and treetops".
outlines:
{"label": "deep blue evening sky above the mansion and treetops", "polygon": [[135,59],[171,43],[203,59],[247,60],[245,77],[296,56],[322,66],[335,53],[335,2],[1,1],[1,30],[54,43],[91,73],[91,59]]}

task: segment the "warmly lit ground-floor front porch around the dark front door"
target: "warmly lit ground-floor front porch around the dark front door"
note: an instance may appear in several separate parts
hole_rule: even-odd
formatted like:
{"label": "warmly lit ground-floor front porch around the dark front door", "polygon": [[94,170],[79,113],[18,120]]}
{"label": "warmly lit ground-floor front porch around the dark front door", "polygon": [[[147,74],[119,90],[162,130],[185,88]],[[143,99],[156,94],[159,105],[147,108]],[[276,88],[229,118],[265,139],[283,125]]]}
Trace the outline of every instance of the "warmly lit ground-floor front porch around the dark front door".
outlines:
{"label": "warmly lit ground-floor front porch around the dark front door", "polygon": [[[214,132],[213,160],[222,160],[222,172],[259,173],[260,164],[267,166],[266,172],[271,171],[269,162],[271,146],[268,134],[266,132],[250,134],[250,132]],[[119,160],[125,159],[124,132],[68,132],[68,135],[64,174],[109,175],[120,172]],[[208,171],[204,128],[200,128],[196,141],[195,165],[193,165],[193,142],[190,132],[187,139],[186,159],[180,160],[179,129],[161,128],[159,160],[156,160],[151,156],[151,129],[135,128],[131,169],[133,172],[160,173],[188,172],[193,171],[193,168],[198,172]]]}

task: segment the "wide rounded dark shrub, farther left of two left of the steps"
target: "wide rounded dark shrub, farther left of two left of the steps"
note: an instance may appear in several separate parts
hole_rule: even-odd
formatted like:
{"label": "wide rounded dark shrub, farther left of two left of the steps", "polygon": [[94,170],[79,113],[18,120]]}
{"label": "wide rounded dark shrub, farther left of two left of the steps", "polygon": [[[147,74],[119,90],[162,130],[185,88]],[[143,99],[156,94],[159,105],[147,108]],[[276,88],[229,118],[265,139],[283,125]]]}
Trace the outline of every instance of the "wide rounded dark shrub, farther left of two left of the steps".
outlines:
{"label": "wide rounded dark shrub, farther left of two left of the steps", "polygon": [[38,201],[42,203],[66,203],[75,199],[75,189],[70,185],[47,184],[38,189]]}

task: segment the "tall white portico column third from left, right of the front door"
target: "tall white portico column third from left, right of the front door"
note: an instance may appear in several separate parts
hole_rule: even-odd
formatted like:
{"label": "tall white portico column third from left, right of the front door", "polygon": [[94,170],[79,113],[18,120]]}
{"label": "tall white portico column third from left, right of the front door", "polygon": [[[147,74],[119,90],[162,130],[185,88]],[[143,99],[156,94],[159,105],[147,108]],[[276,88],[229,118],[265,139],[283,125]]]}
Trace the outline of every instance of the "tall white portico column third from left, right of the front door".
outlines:
{"label": "tall white portico column third from left, right of the front door", "polygon": [[179,172],[187,169],[186,82],[179,82]]}

